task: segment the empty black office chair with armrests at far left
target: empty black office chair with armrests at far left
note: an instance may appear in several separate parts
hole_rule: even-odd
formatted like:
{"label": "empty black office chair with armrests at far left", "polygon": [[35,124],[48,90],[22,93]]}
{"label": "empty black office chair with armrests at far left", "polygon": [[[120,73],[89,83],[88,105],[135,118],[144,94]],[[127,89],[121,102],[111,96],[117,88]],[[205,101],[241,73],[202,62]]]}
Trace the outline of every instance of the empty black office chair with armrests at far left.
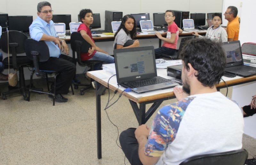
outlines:
{"label": "empty black office chair with armrests at far left", "polygon": [[[13,94],[16,92],[21,92],[24,100],[27,99],[23,67],[30,66],[32,61],[29,60],[26,56],[17,56],[17,54],[25,52],[24,43],[26,39],[27,36],[24,33],[14,30],[9,31],[10,66],[15,70],[19,70],[19,87],[14,88],[9,86],[9,91],[2,93],[3,100],[6,100],[7,94]],[[0,46],[3,52],[8,53],[7,32],[2,34],[0,39]],[[3,63],[4,65],[8,66],[8,57],[4,58]]]}

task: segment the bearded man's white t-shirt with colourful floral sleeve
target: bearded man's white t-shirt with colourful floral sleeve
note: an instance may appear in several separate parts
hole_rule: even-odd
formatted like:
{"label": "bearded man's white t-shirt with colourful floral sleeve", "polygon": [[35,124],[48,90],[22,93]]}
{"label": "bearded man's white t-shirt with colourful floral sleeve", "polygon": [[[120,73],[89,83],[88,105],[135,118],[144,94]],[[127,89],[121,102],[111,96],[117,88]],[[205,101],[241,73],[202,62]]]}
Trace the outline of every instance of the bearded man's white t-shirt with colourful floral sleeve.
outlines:
{"label": "bearded man's white t-shirt with colourful floral sleeve", "polygon": [[220,92],[197,94],[164,106],[154,118],[145,154],[157,165],[178,165],[199,155],[242,148],[241,108]]}

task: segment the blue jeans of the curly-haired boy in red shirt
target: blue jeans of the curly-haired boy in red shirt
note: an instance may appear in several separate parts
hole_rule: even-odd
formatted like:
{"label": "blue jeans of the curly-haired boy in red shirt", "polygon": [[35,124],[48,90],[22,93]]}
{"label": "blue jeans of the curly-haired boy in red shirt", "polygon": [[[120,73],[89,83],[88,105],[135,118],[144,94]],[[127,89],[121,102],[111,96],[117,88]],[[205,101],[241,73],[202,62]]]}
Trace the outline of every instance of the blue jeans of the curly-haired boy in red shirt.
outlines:
{"label": "blue jeans of the curly-haired boy in red shirt", "polygon": [[[107,55],[105,53],[102,53],[102,52],[99,52],[99,51],[96,51],[96,53],[89,60],[99,60],[99,61],[106,62],[108,64],[115,63],[114,57],[109,56],[109,55]],[[102,63],[101,64],[95,64],[94,65],[94,70],[95,71],[100,70],[101,66],[102,66]]]}

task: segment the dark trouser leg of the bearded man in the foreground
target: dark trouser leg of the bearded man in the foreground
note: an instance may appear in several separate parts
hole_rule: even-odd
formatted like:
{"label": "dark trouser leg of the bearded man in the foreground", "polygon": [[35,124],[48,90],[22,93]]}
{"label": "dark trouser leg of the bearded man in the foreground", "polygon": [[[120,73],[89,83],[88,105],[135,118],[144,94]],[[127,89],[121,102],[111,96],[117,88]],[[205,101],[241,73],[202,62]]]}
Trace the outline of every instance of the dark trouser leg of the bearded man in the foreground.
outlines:
{"label": "dark trouser leg of the bearded man in the foreground", "polygon": [[132,165],[142,165],[139,158],[139,144],[135,138],[134,132],[136,128],[129,128],[120,134],[119,141],[122,150]]}

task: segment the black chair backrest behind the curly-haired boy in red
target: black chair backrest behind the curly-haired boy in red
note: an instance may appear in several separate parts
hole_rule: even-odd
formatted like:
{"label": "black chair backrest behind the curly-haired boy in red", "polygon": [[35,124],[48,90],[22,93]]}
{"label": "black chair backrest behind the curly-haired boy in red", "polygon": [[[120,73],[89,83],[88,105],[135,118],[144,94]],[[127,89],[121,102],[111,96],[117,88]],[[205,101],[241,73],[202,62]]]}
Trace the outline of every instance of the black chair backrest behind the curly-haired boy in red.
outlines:
{"label": "black chair backrest behind the curly-haired boy in red", "polygon": [[87,53],[91,45],[84,40],[82,35],[78,32],[73,32],[70,36],[70,46],[73,52],[73,58],[75,58],[75,52],[77,55],[77,62],[81,66],[87,65],[87,63],[82,62],[81,53]]}

